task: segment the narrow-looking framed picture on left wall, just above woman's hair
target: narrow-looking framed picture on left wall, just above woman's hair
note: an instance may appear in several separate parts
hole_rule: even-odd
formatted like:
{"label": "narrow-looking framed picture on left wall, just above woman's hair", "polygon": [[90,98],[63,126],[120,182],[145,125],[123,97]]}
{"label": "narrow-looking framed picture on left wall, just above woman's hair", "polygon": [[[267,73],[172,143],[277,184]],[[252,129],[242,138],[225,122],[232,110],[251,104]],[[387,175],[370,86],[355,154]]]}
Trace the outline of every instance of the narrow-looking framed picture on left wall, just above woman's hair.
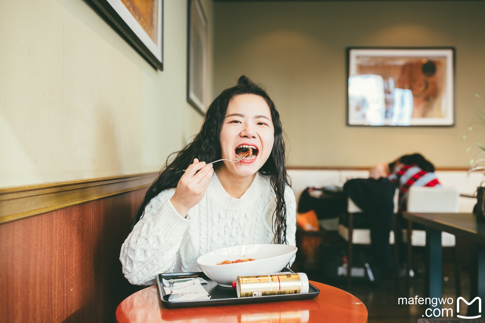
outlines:
{"label": "narrow-looking framed picture on left wall, just above woman's hair", "polygon": [[189,0],[187,101],[200,113],[207,109],[207,19],[199,0]]}

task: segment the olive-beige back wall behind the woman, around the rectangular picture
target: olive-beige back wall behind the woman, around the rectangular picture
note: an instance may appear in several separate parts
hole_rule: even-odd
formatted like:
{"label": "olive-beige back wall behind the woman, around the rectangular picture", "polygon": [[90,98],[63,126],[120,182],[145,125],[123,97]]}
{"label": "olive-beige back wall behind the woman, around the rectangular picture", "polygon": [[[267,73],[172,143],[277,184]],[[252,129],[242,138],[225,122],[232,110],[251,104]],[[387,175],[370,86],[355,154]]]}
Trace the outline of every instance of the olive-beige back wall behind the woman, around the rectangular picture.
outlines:
{"label": "olive-beige back wall behind the woman, around the rectangular picture", "polygon": [[[461,137],[485,92],[485,2],[235,1],[215,3],[214,90],[241,74],[267,85],[297,166],[370,166],[421,152],[466,167],[484,132]],[[455,46],[456,125],[346,126],[347,46]],[[485,105],[482,103],[482,106]]]}

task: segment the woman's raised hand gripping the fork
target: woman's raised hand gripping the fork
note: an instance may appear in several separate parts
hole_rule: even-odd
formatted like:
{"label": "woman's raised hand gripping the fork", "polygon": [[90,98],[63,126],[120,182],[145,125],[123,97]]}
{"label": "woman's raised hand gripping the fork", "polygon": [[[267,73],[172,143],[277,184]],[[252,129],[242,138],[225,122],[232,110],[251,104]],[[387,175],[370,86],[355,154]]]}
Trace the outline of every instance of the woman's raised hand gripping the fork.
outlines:
{"label": "woman's raised hand gripping the fork", "polygon": [[194,164],[180,177],[175,194],[170,199],[178,214],[186,217],[189,210],[202,200],[213,173],[212,164],[206,165],[194,159]]}

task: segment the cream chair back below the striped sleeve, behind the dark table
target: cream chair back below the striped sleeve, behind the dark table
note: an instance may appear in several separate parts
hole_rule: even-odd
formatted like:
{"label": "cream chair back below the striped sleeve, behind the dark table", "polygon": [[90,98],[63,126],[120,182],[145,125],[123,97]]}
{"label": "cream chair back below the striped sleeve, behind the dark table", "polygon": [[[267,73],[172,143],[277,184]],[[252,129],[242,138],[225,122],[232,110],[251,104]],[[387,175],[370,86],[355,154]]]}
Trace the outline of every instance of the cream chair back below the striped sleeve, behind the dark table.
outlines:
{"label": "cream chair back below the striped sleeve, behind the dark table", "polygon": [[407,196],[408,212],[458,213],[460,193],[453,187],[411,186]]}

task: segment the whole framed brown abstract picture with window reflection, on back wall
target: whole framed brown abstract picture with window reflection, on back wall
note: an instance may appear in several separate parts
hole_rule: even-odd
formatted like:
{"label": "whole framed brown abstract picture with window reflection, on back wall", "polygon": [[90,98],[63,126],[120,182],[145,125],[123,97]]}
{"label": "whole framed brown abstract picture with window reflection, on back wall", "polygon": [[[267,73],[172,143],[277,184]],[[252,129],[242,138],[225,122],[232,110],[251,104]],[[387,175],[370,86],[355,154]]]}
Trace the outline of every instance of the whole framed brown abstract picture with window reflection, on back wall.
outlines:
{"label": "whole framed brown abstract picture with window reflection, on back wall", "polygon": [[347,125],[453,126],[455,51],[347,48]]}

